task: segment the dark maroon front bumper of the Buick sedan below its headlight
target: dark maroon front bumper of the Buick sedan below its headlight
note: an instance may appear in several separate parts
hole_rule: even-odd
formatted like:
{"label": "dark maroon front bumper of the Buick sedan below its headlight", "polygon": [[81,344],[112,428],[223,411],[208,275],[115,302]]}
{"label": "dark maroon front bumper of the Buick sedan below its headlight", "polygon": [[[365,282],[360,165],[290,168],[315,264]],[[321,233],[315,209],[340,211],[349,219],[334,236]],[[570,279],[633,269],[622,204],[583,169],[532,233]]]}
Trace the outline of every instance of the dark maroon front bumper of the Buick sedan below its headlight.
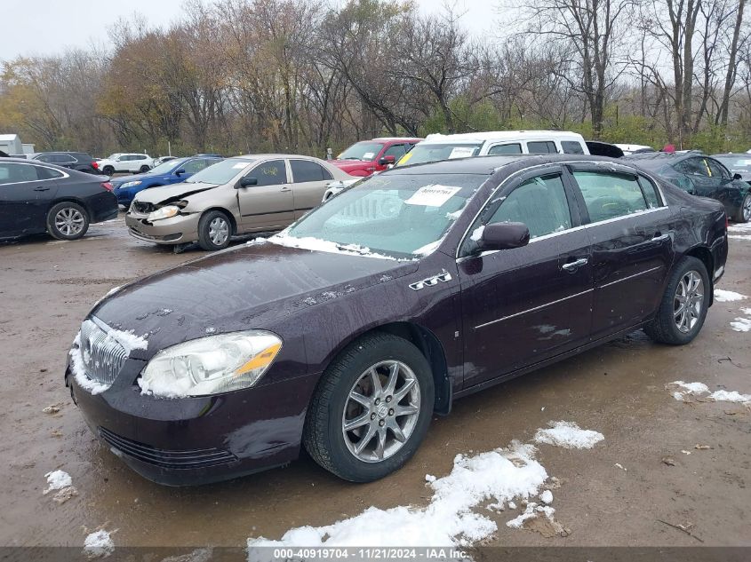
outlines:
{"label": "dark maroon front bumper of the Buick sedan below its headlight", "polygon": [[140,393],[145,363],[126,360],[108,390],[97,395],[66,371],[66,384],[90,429],[124,463],[166,486],[233,479],[296,459],[307,404],[317,376],[260,384],[243,391],[187,399]]}

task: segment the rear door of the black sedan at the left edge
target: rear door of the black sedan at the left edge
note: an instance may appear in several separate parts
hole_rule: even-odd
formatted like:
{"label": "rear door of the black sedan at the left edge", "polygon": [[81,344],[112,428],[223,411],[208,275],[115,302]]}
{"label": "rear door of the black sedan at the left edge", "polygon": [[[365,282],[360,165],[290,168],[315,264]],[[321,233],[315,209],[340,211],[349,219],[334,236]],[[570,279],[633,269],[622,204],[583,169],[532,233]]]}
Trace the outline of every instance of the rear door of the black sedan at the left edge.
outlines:
{"label": "rear door of the black sedan at the left edge", "polygon": [[0,236],[44,232],[59,170],[0,161]]}

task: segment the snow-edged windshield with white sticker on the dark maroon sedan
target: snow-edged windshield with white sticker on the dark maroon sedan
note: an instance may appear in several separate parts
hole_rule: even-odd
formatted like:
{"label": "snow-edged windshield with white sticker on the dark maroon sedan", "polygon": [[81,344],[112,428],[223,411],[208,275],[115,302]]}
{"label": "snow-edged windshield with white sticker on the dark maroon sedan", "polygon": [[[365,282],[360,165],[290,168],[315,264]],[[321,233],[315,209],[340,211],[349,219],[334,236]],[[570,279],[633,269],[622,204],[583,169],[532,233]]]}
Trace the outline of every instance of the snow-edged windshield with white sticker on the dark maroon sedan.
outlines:
{"label": "snow-edged windshield with white sticker on the dark maroon sedan", "polygon": [[[387,174],[358,183],[310,212],[282,235],[285,244],[397,259],[435,250],[480,174]],[[297,239],[297,243],[294,239]]]}

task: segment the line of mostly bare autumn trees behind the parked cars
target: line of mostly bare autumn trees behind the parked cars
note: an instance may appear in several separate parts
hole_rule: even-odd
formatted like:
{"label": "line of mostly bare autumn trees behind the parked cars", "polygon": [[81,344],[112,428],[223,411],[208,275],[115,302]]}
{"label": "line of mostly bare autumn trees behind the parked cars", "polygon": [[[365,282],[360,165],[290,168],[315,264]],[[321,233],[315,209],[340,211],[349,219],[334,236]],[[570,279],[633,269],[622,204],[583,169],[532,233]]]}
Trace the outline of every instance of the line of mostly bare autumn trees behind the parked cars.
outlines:
{"label": "line of mostly bare autumn trees behind the parked cars", "polygon": [[431,132],[751,148],[744,0],[501,0],[496,32],[396,0],[184,4],[107,50],[0,67],[0,132],[37,150],[297,152]]}

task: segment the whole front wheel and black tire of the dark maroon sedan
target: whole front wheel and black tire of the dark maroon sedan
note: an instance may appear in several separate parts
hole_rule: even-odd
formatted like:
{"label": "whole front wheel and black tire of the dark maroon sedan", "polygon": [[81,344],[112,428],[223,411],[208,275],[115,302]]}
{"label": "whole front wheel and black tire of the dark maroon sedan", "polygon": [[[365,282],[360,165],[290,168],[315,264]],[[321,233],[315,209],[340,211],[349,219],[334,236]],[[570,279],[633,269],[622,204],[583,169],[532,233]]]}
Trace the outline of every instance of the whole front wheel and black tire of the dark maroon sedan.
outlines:
{"label": "whole front wheel and black tire of the dark maroon sedan", "polygon": [[435,389],[425,356],[399,336],[356,340],[326,369],[303,441],[327,471],[370,482],[401,468],[422,442]]}

